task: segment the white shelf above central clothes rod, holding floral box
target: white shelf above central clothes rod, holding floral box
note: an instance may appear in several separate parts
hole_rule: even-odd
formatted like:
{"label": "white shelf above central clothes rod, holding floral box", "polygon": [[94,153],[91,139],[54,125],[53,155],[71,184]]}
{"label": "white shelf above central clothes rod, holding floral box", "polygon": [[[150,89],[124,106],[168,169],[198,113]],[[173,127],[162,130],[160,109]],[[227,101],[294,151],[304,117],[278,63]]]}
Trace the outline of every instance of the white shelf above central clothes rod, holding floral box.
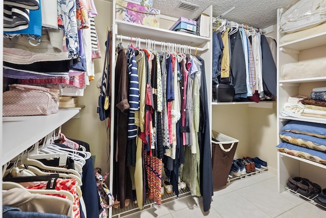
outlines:
{"label": "white shelf above central clothes rod, holding floral box", "polygon": [[118,35],[139,37],[142,39],[151,39],[155,41],[164,41],[177,44],[186,44],[190,46],[199,46],[210,38],[176,32],[171,30],[159,29],[139,25],[138,23],[131,23],[122,20],[116,20]]}

